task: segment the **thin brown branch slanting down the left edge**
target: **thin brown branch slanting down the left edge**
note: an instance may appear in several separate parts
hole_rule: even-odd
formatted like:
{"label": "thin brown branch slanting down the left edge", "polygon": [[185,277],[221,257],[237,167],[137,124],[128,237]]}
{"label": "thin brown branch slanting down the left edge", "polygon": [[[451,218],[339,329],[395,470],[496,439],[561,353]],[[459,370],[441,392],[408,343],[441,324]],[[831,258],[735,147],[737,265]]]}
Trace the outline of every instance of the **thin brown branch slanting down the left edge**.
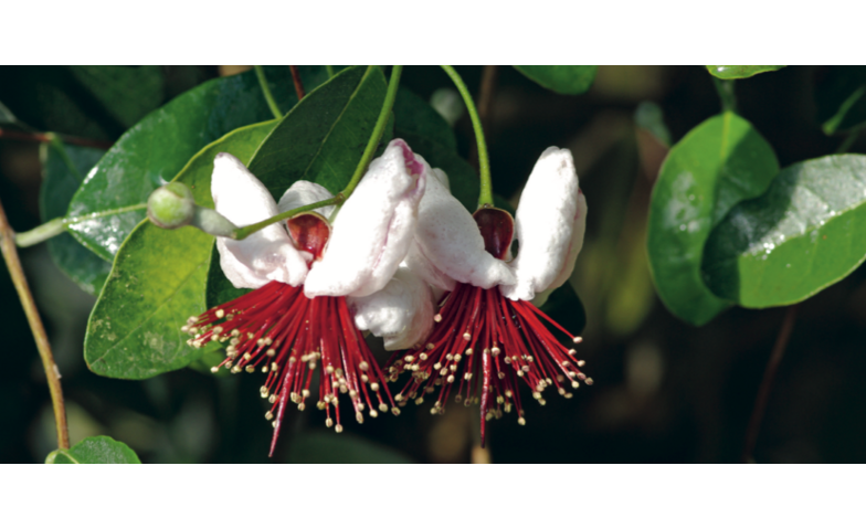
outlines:
{"label": "thin brown branch slanting down the left edge", "polygon": [[12,276],[12,283],[18,290],[18,297],[21,299],[21,306],[24,308],[28,322],[30,322],[30,330],[33,332],[33,338],[36,341],[36,349],[39,356],[42,358],[42,368],[45,370],[45,378],[49,381],[49,390],[51,392],[51,402],[54,405],[54,423],[57,427],[57,447],[70,447],[70,431],[66,426],[66,408],[63,404],[63,390],[60,385],[60,371],[57,364],[54,363],[54,357],[51,355],[51,345],[45,335],[45,328],[42,326],[42,319],[39,317],[36,304],[33,301],[33,295],[28,287],[24,271],[21,268],[21,260],[18,258],[18,250],[15,248],[15,233],[9,225],[3,211],[3,204],[0,202],[0,250],[2,250],[6,265],[9,268],[9,275]]}

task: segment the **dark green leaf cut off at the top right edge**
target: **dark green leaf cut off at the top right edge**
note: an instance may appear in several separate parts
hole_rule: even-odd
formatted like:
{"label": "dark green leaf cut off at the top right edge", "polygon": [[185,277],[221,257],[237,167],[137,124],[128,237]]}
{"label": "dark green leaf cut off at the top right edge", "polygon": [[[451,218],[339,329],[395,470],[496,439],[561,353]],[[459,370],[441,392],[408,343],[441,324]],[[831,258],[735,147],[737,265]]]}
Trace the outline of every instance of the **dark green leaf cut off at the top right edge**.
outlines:
{"label": "dark green leaf cut off at the top right edge", "polygon": [[815,85],[817,120],[825,134],[866,124],[866,66],[828,66]]}

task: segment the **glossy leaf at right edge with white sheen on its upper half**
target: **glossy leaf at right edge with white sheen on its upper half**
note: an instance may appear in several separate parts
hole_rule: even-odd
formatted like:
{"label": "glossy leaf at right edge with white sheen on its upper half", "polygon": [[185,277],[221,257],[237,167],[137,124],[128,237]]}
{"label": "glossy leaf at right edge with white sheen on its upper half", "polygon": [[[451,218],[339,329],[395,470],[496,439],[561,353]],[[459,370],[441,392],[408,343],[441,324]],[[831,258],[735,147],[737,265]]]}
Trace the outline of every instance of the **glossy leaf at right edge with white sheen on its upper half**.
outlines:
{"label": "glossy leaf at right edge with white sheen on its upper half", "polygon": [[712,231],[704,256],[707,284],[744,307],[801,301],[866,260],[863,226],[866,156],[795,163]]}

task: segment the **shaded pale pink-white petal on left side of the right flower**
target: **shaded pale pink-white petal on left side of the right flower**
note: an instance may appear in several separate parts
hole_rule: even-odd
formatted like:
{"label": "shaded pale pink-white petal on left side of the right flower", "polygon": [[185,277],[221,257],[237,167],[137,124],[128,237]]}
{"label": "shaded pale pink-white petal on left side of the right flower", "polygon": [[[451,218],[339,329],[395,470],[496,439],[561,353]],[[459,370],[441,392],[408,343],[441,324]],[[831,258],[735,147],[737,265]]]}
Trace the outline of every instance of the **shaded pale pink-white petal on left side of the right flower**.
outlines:
{"label": "shaded pale pink-white petal on left side of the right flower", "polygon": [[472,214],[439,178],[427,180],[418,210],[415,242],[418,252],[413,251],[410,257],[413,269],[440,288],[454,287],[443,284],[437,278],[441,275],[482,288],[515,282],[508,265],[484,250],[484,239]]}

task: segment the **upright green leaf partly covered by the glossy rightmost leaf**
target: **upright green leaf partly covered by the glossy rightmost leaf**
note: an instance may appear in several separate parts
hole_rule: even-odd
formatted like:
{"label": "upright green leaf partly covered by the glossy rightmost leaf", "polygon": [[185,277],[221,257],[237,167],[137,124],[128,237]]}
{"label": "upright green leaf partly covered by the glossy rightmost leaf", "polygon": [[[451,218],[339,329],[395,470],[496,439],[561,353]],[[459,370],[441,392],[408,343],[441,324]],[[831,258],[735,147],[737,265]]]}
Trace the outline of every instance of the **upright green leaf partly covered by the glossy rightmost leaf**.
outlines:
{"label": "upright green leaf partly covered by the glossy rightmost leaf", "polygon": [[704,325],[731,305],[704,284],[704,245],[731,208],[762,194],[778,172],[770,145],[732,113],[707,119],[670,149],[653,189],[647,252],[674,315]]}

